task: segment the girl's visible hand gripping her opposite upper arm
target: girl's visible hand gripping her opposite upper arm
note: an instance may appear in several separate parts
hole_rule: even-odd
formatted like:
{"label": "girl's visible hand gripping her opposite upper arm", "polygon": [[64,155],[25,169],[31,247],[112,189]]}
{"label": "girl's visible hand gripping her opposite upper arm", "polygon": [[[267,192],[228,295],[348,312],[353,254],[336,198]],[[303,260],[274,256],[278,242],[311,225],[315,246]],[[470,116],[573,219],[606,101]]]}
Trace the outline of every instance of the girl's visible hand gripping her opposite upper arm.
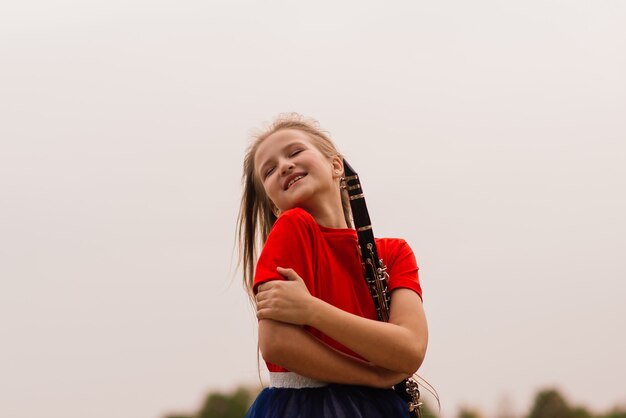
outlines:
{"label": "girl's visible hand gripping her opposite upper arm", "polygon": [[276,271],[287,280],[272,280],[259,286],[256,295],[256,317],[294,325],[308,325],[315,298],[293,269],[278,267]]}

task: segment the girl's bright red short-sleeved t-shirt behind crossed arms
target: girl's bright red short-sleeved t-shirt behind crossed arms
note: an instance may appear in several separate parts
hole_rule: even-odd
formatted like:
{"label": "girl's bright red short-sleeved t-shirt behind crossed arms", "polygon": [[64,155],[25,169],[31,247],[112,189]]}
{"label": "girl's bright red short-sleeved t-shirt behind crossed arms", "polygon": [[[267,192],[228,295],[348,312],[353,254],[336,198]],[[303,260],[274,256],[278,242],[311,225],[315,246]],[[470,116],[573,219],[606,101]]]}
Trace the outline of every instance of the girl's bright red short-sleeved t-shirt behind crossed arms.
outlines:
{"label": "girl's bright red short-sleeved t-shirt behind crossed arms", "polygon": [[[408,288],[420,298],[422,289],[415,256],[403,239],[376,239],[378,255],[389,273],[389,291]],[[326,228],[304,209],[283,212],[274,223],[254,274],[254,292],[270,280],[283,280],[276,267],[292,268],[304,280],[311,295],[331,305],[369,319],[378,319],[374,302],[363,278],[356,231]],[[315,328],[307,330],[324,343],[344,353],[360,357],[349,348]],[[271,372],[287,371],[267,363]]]}

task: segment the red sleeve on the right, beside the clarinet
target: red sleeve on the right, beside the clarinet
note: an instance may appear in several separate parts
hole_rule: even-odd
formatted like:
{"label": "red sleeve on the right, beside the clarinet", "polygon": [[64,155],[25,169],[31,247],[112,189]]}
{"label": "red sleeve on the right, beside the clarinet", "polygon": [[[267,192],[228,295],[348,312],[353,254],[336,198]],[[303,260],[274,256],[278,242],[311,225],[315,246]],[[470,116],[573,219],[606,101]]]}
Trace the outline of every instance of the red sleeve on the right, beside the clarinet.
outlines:
{"label": "red sleeve on the right, beside the clarinet", "polygon": [[417,261],[413,250],[403,239],[382,239],[387,259],[383,260],[389,273],[389,291],[398,288],[413,290],[422,299],[422,287],[419,281]]}

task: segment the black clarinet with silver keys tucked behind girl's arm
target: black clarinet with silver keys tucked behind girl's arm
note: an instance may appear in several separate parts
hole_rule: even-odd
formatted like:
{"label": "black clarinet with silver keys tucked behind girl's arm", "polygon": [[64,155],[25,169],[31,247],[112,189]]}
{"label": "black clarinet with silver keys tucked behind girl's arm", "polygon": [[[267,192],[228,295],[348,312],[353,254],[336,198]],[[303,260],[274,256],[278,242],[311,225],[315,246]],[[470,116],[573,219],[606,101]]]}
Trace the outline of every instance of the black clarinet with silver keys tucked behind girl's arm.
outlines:
{"label": "black clarinet with silver keys tucked behind girl's arm", "polygon": [[[387,288],[389,281],[387,266],[378,256],[374,232],[372,231],[372,222],[365,204],[359,176],[345,159],[343,160],[343,167],[344,177],[341,180],[341,187],[346,189],[350,198],[352,219],[359,239],[363,276],[374,300],[378,320],[389,322],[391,295]],[[422,403],[420,402],[420,391],[415,379],[413,377],[404,379],[402,382],[393,385],[393,390],[407,403],[409,415],[412,418],[421,418],[420,406]]]}

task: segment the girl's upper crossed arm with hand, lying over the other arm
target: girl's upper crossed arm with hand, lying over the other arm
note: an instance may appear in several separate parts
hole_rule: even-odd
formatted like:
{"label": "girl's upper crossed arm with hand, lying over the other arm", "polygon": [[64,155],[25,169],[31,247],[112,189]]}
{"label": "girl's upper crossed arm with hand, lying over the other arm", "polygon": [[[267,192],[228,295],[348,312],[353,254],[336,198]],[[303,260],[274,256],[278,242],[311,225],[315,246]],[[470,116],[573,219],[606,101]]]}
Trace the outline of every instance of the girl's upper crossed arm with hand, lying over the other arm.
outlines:
{"label": "girl's upper crossed arm with hand, lying over the other arm", "polygon": [[[288,280],[275,280],[259,287],[259,319],[312,326],[373,364],[405,376],[413,374],[422,364],[428,327],[417,293],[402,288],[394,290],[389,322],[380,322],[348,313],[311,296],[292,269],[279,268],[279,273]],[[280,339],[274,343],[287,342]]]}

